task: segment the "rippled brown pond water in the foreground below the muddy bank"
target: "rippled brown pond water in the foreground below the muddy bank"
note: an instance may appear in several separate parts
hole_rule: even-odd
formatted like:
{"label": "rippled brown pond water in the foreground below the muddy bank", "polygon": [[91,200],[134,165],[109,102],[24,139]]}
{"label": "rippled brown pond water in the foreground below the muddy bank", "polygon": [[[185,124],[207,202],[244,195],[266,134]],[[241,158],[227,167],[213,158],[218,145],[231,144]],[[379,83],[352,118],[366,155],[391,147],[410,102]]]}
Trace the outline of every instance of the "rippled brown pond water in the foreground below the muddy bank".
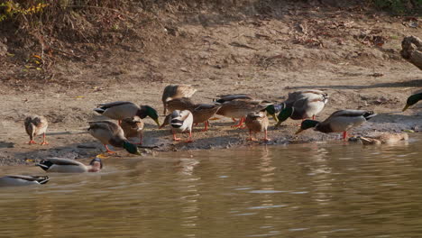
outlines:
{"label": "rippled brown pond water in the foreground below the muddy bank", "polygon": [[[411,137],[105,159],[101,173],[1,188],[0,237],[420,237]],[[2,168],[18,170],[43,174]]]}

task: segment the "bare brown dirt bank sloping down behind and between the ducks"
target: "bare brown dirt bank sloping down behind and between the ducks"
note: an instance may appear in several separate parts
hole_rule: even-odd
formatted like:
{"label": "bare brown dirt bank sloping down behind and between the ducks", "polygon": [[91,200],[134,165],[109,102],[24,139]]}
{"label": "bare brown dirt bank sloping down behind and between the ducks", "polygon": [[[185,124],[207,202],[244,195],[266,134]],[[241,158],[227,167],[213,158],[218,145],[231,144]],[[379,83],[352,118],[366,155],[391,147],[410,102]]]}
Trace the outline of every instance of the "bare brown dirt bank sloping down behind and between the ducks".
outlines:
{"label": "bare brown dirt bank sloping down behind and between the ducks", "polygon": [[[92,111],[97,103],[128,100],[161,112],[162,89],[170,83],[197,87],[192,99],[198,103],[231,93],[281,102],[291,91],[318,88],[330,95],[320,118],[344,108],[379,114],[353,133],[422,128],[420,104],[398,113],[407,96],[422,86],[422,71],[399,55],[403,36],[422,38],[420,26],[409,24],[414,19],[319,5],[277,7],[270,14],[235,17],[212,11],[162,14],[159,22],[142,26],[142,31],[151,30],[150,38],[125,40],[115,48],[97,47],[92,54],[78,56],[87,60],[59,60],[50,77],[33,81],[28,76],[37,69],[3,61],[8,73],[0,87],[0,162],[32,164],[33,159],[48,156],[95,156],[103,148],[86,129],[87,121],[103,119]],[[74,47],[80,49],[82,44]],[[27,114],[48,118],[50,145],[25,144]],[[245,140],[246,130],[232,129],[230,119],[211,122],[206,133],[197,127],[196,142],[188,144],[173,143],[168,129],[159,130],[149,119],[146,123],[145,144],[158,146],[152,151],[256,143]],[[339,138],[311,131],[297,136],[296,124],[289,120],[278,130],[271,126],[270,143]],[[120,151],[116,156],[126,155]]]}

